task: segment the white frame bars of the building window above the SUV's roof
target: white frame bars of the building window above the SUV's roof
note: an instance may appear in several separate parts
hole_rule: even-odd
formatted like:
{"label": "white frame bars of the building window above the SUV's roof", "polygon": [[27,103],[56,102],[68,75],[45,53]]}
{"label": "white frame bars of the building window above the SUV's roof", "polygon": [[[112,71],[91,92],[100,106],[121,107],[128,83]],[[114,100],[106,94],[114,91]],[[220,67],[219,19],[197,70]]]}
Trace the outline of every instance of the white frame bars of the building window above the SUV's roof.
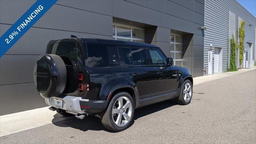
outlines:
{"label": "white frame bars of the building window above the SUV's roof", "polygon": [[[124,26],[124,25],[120,25],[120,24],[112,24],[112,25],[115,26],[115,35],[113,36],[113,38],[114,38],[115,40],[117,40],[117,38],[122,38],[122,39],[126,39],[126,40],[131,40],[131,42],[132,42],[133,40],[140,40],[140,41],[145,42],[145,30],[144,30],[143,28],[138,28],[138,27],[134,27],[134,26]],[[123,27],[126,27],[126,28],[130,28],[130,36],[131,36],[131,37],[128,38],[128,37],[124,37],[124,36],[117,36],[117,33],[116,33],[116,26],[123,26]],[[139,30],[143,30],[144,39],[142,39],[142,38],[133,38],[133,37],[132,37],[132,29],[133,29],[133,28],[139,29]]]}

